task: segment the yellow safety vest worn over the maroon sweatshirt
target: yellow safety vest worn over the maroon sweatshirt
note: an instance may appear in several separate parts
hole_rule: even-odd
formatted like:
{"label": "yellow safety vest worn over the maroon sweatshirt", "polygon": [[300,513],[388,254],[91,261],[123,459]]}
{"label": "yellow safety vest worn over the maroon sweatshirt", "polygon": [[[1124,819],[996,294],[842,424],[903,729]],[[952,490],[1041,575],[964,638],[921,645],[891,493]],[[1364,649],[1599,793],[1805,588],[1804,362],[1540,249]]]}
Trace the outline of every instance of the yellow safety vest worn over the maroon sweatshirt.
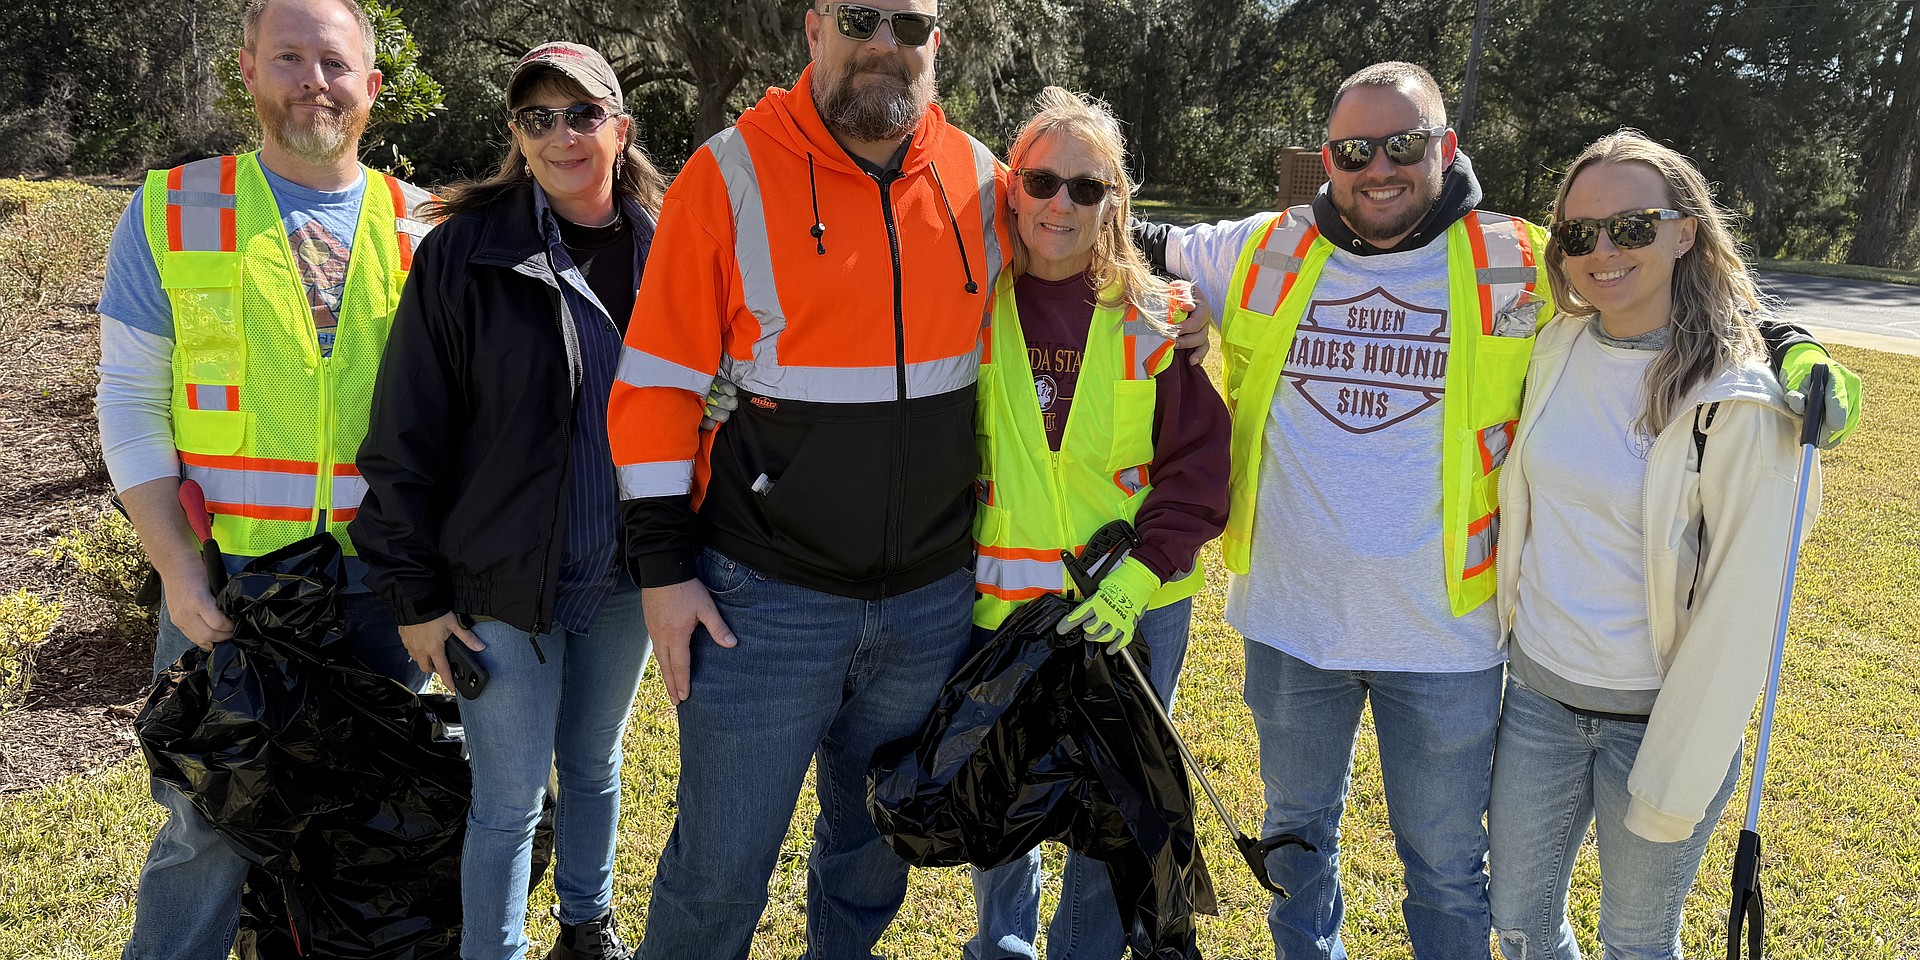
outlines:
{"label": "yellow safety vest worn over the maroon sweatshirt", "polygon": [[[1102,300],[1112,296],[1117,290]],[[995,286],[993,326],[981,344],[973,624],[993,630],[1021,603],[1066,589],[1060,551],[1079,555],[1110,520],[1140,513],[1152,492],[1154,374],[1173,363],[1173,342],[1131,305],[1096,305],[1060,451],[1041,422],[1012,276]],[[1194,595],[1204,580],[1196,561],[1148,609]]]}

